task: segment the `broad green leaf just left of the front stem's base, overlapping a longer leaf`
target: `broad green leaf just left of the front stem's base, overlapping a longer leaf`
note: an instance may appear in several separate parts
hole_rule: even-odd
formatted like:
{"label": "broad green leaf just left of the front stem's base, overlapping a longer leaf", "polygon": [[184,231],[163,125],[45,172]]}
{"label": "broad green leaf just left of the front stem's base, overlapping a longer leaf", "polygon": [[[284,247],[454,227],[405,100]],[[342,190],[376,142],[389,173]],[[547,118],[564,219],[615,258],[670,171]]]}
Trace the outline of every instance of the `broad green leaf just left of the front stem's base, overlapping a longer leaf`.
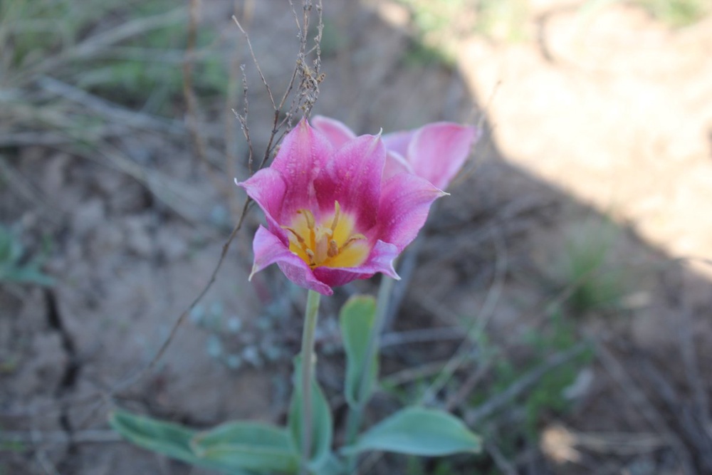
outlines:
{"label": "broad green leaf just left of the front stem's base, overlapping a longer leaf", "polygon": [[258,422],[227,422],[196,434],[195,454],[224,466],[256,472],[295,473],[299,454],[286,430]]}

